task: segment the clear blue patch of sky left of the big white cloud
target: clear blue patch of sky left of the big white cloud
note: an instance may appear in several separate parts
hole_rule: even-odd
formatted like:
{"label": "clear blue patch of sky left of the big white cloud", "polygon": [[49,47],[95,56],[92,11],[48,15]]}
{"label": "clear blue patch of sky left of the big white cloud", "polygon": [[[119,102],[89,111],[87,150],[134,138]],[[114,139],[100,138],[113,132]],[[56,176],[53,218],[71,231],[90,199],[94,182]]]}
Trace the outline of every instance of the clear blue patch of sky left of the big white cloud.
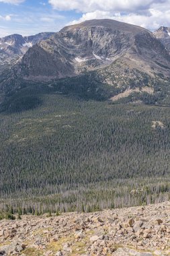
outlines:
{"label": "clear blue patch of sky left of the big white cloud", "polygon": [[18,4],[0,1],[0,37],[56,32],[80,17],[81,13],[76,11],[58,11],[48,1],[26,0]]}

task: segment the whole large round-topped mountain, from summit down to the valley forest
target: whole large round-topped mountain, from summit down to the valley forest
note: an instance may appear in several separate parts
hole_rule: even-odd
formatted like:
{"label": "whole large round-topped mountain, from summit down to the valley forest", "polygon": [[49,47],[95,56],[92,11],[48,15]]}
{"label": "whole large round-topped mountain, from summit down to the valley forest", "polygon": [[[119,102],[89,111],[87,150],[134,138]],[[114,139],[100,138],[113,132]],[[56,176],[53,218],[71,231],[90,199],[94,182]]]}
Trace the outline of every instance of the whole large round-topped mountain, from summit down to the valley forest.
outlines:
{"label": "whole large round-topped mountain, from summit down to the valley forest", "polygon": [[0,89],[8,95],[30,83],[46,84],[83,98],[169,104],[169,79],[170,55],[153,33],[114,20],[90,20],[28,49],[1,75]]}

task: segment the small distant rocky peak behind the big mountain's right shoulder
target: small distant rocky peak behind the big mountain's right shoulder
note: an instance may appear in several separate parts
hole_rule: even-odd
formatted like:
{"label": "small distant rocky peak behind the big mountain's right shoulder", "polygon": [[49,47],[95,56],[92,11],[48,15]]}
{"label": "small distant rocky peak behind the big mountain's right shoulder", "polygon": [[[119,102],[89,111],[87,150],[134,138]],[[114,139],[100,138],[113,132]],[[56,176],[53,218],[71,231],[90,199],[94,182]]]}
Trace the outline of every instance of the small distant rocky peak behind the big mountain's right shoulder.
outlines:
{"label": "small distant rocky peak behind the big mountain's right shoulder", "polygon": [[167,51],[170,53],[170,28],[161,26],[153,34],[165,45]]}

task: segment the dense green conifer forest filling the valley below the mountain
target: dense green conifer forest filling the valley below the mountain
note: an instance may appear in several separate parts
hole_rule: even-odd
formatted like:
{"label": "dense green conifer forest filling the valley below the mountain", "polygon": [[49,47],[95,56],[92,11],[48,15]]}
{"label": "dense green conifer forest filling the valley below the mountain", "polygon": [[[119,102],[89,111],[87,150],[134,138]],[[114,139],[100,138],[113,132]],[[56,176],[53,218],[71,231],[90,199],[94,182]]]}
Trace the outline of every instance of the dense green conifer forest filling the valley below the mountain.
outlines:
{"label": "dense green conifer forest filling the valley below the mountain", "polygon": [[50,216],[169,199],[169,106],[41,92],[23,88],[0,113],[2,210]]}

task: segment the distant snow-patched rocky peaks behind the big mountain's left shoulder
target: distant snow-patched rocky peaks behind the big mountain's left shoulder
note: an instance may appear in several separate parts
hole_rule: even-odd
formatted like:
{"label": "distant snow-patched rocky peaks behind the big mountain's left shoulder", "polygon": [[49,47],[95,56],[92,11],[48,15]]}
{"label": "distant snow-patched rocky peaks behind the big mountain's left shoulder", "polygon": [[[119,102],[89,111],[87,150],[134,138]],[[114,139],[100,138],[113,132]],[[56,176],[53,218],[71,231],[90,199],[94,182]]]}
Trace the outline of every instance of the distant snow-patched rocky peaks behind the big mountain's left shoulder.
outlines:
{"label": "distant snow-patched rocky peaks behind the big mountain's left shoulder", "polygon": [[0,38],[0,72],[1,69],[14,65],[30,47],[52,36],[54,33],[46,32],[34,36],[12,34]]}

